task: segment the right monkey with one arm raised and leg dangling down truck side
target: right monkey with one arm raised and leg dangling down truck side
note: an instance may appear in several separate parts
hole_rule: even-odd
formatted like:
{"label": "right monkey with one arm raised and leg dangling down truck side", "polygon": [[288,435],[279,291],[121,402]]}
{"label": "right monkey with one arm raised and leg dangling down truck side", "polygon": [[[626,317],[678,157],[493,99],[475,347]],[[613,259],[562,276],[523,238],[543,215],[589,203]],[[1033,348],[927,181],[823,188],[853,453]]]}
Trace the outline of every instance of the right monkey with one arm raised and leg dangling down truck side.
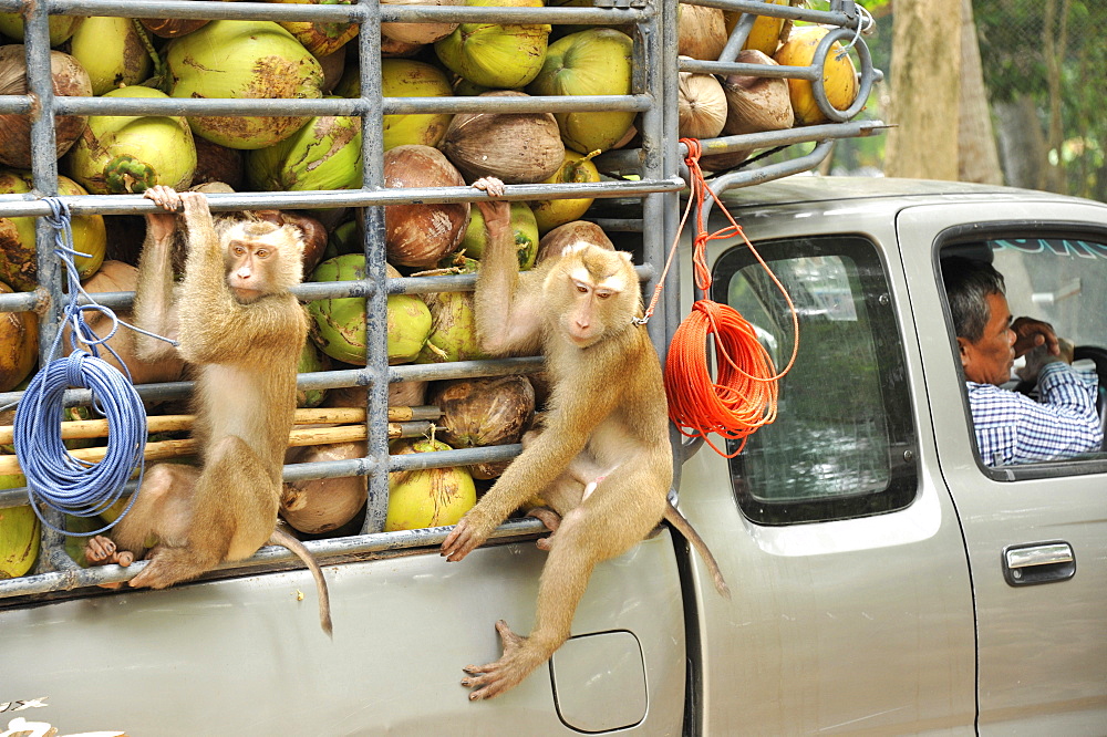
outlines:
{"label": "right monkey with one arm raised and leg dangling down truck side", "polygon": [[[492,197],[503,193],[496,179],[474,186]],[[555,532],[539,541],[549,559],[535,627],[521,637],[496,623],[504,654],[464,668],[470,700],[503,694],[548,661],[569,636],[592,568],[643,540],[662,518],[697,547],[716,589],[730,595],[710,551],[668,500],[665,392],[645,328],[632,322],[642,316],[642,298],[630,255],[570,245],[519,273],[508,204],[477,206],[488,229],[475,295],[482,347],[496,355],[541,350],[552,390],[544,429],[525,438],[523,453],[446,537],[442,554],[462,560],[535,495],[552,509],[536,516]]]}

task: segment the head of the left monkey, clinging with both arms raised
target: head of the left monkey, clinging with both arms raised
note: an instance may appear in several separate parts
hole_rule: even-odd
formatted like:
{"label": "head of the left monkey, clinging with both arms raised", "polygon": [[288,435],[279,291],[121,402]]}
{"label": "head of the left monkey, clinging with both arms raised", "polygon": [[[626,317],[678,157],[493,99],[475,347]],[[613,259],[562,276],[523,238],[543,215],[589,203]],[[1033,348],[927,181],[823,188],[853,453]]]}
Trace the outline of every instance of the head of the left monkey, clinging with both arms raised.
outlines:
{"label": "head of the left monkey, clinging with both arms raised", "polygon": [[223,231],[220,241],[227,286],[239,302],[288,291],[303,277],[303,239],[291,226],[239,221]]}

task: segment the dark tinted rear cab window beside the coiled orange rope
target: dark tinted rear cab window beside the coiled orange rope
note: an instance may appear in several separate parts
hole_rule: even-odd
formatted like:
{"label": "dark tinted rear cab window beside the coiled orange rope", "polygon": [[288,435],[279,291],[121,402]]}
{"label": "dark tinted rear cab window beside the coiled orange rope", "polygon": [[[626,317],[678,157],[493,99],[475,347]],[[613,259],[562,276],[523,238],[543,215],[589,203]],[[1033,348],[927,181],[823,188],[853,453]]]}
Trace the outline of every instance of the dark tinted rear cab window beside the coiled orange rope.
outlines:
{"label": "dark tinted rear cab window beside the coiled orange rope", "polygon": [[[799,316],[799,351],[776,422],[731,459],[738,506],[763,525],[892,511],[915,494],[913,416],[883,267],[858,236],[763,241]],[[769,274],[739,245],[716,262],[713,298],[753,324],[778,369],[795,336]],[[737,449],[730,442],[730,451]]]}

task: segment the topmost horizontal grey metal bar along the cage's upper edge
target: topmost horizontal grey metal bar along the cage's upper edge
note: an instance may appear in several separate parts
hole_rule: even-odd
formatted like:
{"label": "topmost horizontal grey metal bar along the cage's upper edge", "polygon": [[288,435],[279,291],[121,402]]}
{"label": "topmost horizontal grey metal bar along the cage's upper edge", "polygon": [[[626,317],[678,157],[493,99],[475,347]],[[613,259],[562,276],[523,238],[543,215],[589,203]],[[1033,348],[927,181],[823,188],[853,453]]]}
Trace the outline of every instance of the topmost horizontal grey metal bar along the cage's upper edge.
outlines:
{"label": "topmost horizontal grey metal bar along the cage's upper edge", "polygon": [[[0,0],[0,11],[20,12],[28,0]],[[651,17],[635,8],[500,8],[464,6],[297,4],[261,2],[203,2],[186,0],[45,0],[58,15],[115,15],[122,18],[192,18],[197,20],[328,21],[361,23],[380,15],[382,22],[403,23],[640,23]]]}

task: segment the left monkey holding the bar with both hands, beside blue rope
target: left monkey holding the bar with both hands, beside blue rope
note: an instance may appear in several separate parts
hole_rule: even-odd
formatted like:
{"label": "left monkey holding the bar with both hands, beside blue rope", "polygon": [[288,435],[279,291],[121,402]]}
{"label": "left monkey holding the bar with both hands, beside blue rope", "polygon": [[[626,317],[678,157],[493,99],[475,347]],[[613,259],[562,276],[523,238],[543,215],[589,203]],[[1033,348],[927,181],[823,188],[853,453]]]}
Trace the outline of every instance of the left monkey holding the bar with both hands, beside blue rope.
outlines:
{"label": "left monkey holding the bar with both hands, beside blue rope", "polygon": [[[158,464],[111,538],[90,541],[93,563],[128,564],[148,551],[132,587],[164,589],[268,543],[299,556],[319,587],[330,634],[327,582],[307,548],[276,529],[281,470],[296,411],[296,374],[308,316],[289,289],[300,282],[299,231],[269,222],[221,222],[200,193],[153,187],[145,196],[166,214],[147,216],[138,267],[135,323],[177,345],[136,334],[136,354],[179,353],[195,374],[193,437],[200,466]],[[188,246],[174,284],[173,215],[183,207]]]}

